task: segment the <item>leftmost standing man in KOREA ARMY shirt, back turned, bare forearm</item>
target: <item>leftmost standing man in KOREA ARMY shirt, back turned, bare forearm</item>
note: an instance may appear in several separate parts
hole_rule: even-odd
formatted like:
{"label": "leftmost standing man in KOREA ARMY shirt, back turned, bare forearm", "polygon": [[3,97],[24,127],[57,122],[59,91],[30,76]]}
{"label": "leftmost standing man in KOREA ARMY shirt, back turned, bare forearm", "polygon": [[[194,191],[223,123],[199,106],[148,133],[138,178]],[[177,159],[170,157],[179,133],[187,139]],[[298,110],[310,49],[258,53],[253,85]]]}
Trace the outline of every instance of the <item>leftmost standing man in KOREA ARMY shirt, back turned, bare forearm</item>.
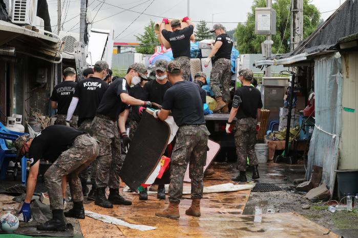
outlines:
{"label": "leftmost standing man in KOREA ARMY shirt, back turned, bare forearm", "polygon": [[[74,68],[65,68],[64,82],[57,84],[51,94],[51,107],[52,109],[57,109],[57,118],[55,125],[64,125],[66,126],[66,115],[67,110],[70,107],[73,93],[77,83],[76,81],[76,70]],[[70,127],[77,128],[78,115],[77,110],[75,110],[70,121]]]}

